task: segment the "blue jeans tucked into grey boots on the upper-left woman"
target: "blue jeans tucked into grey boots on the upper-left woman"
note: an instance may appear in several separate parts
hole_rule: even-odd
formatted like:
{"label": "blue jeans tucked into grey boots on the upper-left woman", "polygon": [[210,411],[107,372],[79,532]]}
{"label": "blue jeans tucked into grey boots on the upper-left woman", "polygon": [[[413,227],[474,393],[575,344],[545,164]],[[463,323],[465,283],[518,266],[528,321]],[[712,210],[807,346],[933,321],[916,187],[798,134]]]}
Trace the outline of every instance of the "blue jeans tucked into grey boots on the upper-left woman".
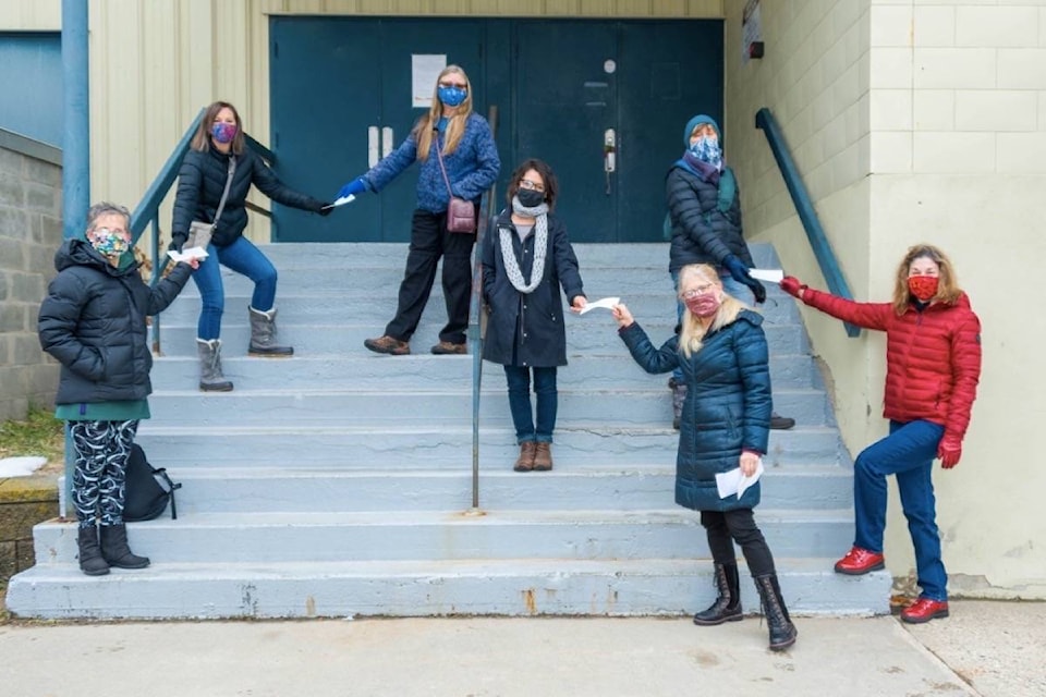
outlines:
{"label": "blue jeans tucked into grey boots on the upper-left woman", "polygon": [[207,246],[207,258],[193,272],[199,289],[202,307],[196,335],[205,341],[221,335],[221,314],[226,308],[226,291],[221,284],[221,267],[226,266],[254,281],[251,307],[267,313],[276,303],[276,267],[246,237],[238,237],[226,247]]}

